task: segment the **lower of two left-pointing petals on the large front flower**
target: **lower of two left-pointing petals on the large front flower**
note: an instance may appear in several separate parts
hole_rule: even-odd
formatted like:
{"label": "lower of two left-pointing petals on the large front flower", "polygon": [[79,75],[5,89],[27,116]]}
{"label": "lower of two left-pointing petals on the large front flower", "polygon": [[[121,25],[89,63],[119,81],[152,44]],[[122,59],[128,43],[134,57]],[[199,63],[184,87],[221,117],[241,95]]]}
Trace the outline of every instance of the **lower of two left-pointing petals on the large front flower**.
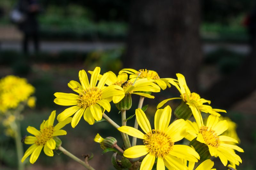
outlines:
{"label": "lower of two left-pointing petals on the large front flower", "polygon": [[139,158],[148,154],[148,148],[145,145],[132,146],[124,151],[126,158]]}

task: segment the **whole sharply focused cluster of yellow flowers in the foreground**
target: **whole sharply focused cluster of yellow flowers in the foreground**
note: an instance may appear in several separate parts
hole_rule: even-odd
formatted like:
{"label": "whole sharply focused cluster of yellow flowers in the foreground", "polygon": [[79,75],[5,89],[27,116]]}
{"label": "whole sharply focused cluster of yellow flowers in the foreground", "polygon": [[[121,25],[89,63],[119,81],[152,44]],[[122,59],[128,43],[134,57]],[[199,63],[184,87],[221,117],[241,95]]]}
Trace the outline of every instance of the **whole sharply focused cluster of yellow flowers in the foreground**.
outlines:
{"label": "whole sharply focused cluster of yellow flowers in the foreground", "polygon": [[[49,119],[40,125],[40,130],[28,126],[27,131],[34,136],[25,139],[26,144],[32,144],[25,152],[22,162],[30,156],[33,164],[38,158],[41,150],[48,156],[53,156],[56,146],[54,137],[65,135],[67,132],[61,130],[66,124],[71,122],[73,128],[79,123],[81,117],[89,124],[100,121],[104,117],[111,125],[121,132],[124,140],[124,151],[117,147],[117,141],[111,138],[102,138],[99,134],[94,138],[95,142],[101,144],[102,148],[115,147],[121,156],[128,158],[130,164],[140,166],[140,169],[152,169],[156,164],[157,170],[168,169],[188,169],[210,170],[214,163],[211,157],[219,157],[224,166],[236,168],[242,163],[241,158],[235,151],[244,152],[238,147],[239,138],[232,133],[225,133],[228,130],[228,123],[225,118],[220,118],[218,112],[225,110],[213,109],[209,100],[201,98],[196,93],[191,93],[185,77],[177,74],[177,79],[160,78],[152,70],[123,69],[116,76],[113,72],[100,74],[100,67],[89,71],[91,79],[89,81],[84,70],[79,71],[79,80],[70,81],[68,87],[75,91],[73,93],[54,94],[54,102],[62,106],[70,106],[57,116],[59,123],[53,126],[55,111]],[[142,110],[144,97],[154,98],[151,92],[160,92],[173,85],[180,96],[166,99],[157,106],[154,128]],[[131,108],[131,95],[141,96],[138,109],[135,111],[135,124],[138,127],[126,126],[125,111]],[[172,109],[167,105],[160,109],[167,101],[180,99],[181,104],[174,111],[176,119],[171,123]],[[110,102],[116,103],[117,108],[122,112],[122,126],[117,125],[110,119],[105,111],[109,112]],[[208,104],[205,104],[208,103]],[[203,121],[201,113],[209,113],[206,121]],[[193,115],[195,122],[189,120]],[[72,117],[73,116],[73,117]],[[232,131],[235,131],[233,128]],[[225,135],[226,136],[225,136]],[[143,140],[143,145],[130,143],[128,135]],[[189,145],[181,144],[182,139],[190,141]],[[236,139],[235,139],[236,138]],[[142,160],[142,161],[141,161]],[[197,163],[197,164],[196,164]],[[129,168],[121,165],[119,168]]]}

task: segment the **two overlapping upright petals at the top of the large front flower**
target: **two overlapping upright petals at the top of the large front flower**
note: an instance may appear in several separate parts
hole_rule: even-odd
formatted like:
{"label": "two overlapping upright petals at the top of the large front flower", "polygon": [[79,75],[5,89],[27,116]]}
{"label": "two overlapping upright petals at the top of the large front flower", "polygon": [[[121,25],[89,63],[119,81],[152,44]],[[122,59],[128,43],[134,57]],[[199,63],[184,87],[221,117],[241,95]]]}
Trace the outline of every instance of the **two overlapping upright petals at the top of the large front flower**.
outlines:
{"label": "two overlapping upright petals at the top of the large front flower", "polygon": [[172,109],[166,106],[164,109],[158,109],[155,114],[155,129],[165,131],[170,124]]}

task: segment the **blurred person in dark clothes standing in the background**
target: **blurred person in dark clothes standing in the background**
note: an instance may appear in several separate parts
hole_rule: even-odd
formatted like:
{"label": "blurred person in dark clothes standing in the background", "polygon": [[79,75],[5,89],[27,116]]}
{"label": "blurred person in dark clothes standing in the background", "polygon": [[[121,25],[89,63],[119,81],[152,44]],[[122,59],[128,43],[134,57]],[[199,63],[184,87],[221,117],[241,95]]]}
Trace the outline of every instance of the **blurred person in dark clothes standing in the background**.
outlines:
{"label": "blurred person in dark clothes standing in the background", "polygon": [[39,25],[37,15],[40,12],[40,6],[37,0],[19,0],[18,7],[25,14],[25,19],[18,26],[23,32],[22,48],[23,53],[28,53],[28,41],[33,39],[35,52],[39,52]]}

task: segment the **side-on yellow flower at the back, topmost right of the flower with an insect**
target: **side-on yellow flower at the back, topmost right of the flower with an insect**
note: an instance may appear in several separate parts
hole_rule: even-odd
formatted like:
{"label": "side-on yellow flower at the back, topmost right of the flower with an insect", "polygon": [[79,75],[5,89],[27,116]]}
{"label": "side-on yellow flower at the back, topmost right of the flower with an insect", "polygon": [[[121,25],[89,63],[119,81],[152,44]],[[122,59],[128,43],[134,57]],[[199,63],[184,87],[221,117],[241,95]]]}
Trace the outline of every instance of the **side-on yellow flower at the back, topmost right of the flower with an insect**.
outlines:
{"label": "side-on yellow flower at the back, topmost right of the flower with an insect", "polygon": [[169,88],[171,87],[170,83],[168,82],[171,78],[160,78],[159,75],[153,70],[140,69],[137,71],[132,68],[124,68],[119,72],[119,74],[122,73],[131,74],[131,80],[136,79],[138,76],[139,78],[147,78],[148,80],[153,80],[163,90],[166,89],[167,86]]}

